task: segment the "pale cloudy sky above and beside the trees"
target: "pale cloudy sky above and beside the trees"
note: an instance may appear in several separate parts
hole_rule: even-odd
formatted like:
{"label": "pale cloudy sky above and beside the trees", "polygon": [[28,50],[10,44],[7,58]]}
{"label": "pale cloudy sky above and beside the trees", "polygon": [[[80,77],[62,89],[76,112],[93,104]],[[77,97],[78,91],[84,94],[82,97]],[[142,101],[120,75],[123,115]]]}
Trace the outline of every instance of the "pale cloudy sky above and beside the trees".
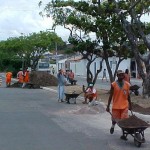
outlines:
{"label": "pale cloudy sky above and beside the trees", "polygon": [[[0,0],[0,41],[9,37],[28,35],[33,32],[46,31],[52,28],[52,19],[42,18],[38,3],[40,0]],[[49,0],[42,0],[43,6]],[[143,20],[150,22],[150,17]],[[64,41],[67,41],[69,31],[63,27],[57,27],[55,32]]]}

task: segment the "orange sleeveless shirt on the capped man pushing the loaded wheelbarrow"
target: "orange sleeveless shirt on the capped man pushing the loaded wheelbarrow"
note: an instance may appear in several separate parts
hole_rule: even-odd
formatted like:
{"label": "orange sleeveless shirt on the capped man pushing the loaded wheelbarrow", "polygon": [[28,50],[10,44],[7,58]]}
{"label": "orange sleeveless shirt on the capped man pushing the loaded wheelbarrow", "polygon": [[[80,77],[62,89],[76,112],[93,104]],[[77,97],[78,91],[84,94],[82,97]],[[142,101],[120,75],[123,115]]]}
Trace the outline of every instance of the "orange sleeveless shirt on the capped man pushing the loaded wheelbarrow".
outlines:
{"label": "orange sleeveless shirt on the capped man pushing the loaded wheelbarrow", "polygon": [[112,86],[114,88],[114,93],[112,97],[113,109],[125,109],[128,107],[128,95],[129,95],[129,89],[130,84],[126,81],[124,81],[124,85],[122,88],[118,86],[118,83],[115,81],[112,83]]}

